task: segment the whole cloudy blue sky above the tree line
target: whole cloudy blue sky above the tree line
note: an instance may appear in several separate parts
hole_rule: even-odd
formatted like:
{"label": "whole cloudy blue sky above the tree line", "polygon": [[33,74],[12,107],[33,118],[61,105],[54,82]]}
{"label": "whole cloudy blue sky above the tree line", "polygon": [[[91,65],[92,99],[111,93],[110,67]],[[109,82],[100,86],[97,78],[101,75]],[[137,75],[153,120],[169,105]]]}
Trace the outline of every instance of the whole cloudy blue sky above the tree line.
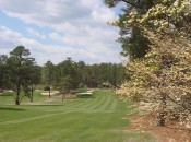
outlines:
{"label": "whole cloudy blue sky above the tree line", "polygon": [[23,45],[38,64],[120,62],[118,29],[107,24],[118,13],[103,0],[0,0],[0,55]]}

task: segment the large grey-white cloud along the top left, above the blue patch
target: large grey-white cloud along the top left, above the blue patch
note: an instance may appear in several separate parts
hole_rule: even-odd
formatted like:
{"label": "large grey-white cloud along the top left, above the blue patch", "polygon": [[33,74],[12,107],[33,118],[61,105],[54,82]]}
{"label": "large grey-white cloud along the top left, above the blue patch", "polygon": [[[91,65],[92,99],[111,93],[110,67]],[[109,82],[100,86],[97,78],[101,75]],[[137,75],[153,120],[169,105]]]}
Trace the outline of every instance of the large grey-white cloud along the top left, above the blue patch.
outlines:
{"label": "large grey-white cloud along the top left, above the blue patch", "polygon": [[82,19],[91,12],[81,1],[72,0],[1,0],[0,9],[11,17],[39,26]]}

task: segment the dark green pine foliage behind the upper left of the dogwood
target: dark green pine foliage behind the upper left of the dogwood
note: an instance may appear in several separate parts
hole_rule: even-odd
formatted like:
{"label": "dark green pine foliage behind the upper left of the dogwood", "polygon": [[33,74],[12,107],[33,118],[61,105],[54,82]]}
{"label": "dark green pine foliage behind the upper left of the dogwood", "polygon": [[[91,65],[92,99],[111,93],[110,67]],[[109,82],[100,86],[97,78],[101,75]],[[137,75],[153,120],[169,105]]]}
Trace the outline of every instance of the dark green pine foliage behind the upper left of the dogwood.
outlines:
{"label": "dark green pine foliage behind the upper left of the dogwood", "polygon": [[150,50],[150,42],[144,36],[142,29],[135,25],[127,26],[126,19],[131,12],[136,12],[140,15],[144,14],[156,0],[105,0],[108,7],[116,7],[119,2],[127,4],[123,8],[123,13],[119,15],[118,23],[115,24],[120,28],[118,42],[122,46],[121,55],[130,57],[130,59],[142,58]]}

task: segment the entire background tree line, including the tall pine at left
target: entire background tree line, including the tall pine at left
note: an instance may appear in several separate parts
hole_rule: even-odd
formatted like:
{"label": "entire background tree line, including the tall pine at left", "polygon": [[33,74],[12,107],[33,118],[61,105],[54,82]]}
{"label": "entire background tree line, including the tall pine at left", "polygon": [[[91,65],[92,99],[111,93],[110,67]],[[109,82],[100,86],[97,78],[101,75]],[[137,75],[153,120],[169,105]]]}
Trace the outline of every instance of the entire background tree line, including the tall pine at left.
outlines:
{"label": "entire background tree line, including the tall pine at left", "polygon": [[20,105],[24,96],[33,102],[33,91],[37,84],[45,90],[69,93],[77,87],[115,88],[126,78],[121,63],[86,64],[67,58],[58,64],[47,61],[44,66],[37,66],[24,46],[17,46],[9,56],[0,55],[0,90],[14,90],[16,105]]}

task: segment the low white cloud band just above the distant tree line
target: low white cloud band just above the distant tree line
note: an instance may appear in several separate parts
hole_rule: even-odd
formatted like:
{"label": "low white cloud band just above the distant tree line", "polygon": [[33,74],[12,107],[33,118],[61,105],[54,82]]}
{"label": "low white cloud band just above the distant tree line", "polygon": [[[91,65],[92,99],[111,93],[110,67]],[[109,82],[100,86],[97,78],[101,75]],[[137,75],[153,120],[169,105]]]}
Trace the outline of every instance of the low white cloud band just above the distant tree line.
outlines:
{"label": "low white cloud band just above the distant tree line", "polygon": [[[7,42],[10,43],[10,48],[8,49],[3,48],[3,43]],[[1,54],[9,54],[17,45],[25,46],[27,49],[31,50],[32,57],[35,57],[39,64],[45,63],[47,60],[51,60],[55,63],[59,63],[67,57],[72,57],[72,59],[74,59],[75,61],[85,60],[88,63],[115,61],[109,59],[112,56],[115,56],[115,54],[112,51],[107,51],[107,49],[105,50],[104,48],[99,50],[99,54],[96,54],[96,51],[98,50],[92,50],[94,48],[80,49],[56,45],[43,45],[34,39],[25,38],[21,34],[3,26],[0,26],[0,43],[2,43],[0,45]],[[106,51],[108,52],[108,55]],[[105,56],[102,56],[102,52]]]}

